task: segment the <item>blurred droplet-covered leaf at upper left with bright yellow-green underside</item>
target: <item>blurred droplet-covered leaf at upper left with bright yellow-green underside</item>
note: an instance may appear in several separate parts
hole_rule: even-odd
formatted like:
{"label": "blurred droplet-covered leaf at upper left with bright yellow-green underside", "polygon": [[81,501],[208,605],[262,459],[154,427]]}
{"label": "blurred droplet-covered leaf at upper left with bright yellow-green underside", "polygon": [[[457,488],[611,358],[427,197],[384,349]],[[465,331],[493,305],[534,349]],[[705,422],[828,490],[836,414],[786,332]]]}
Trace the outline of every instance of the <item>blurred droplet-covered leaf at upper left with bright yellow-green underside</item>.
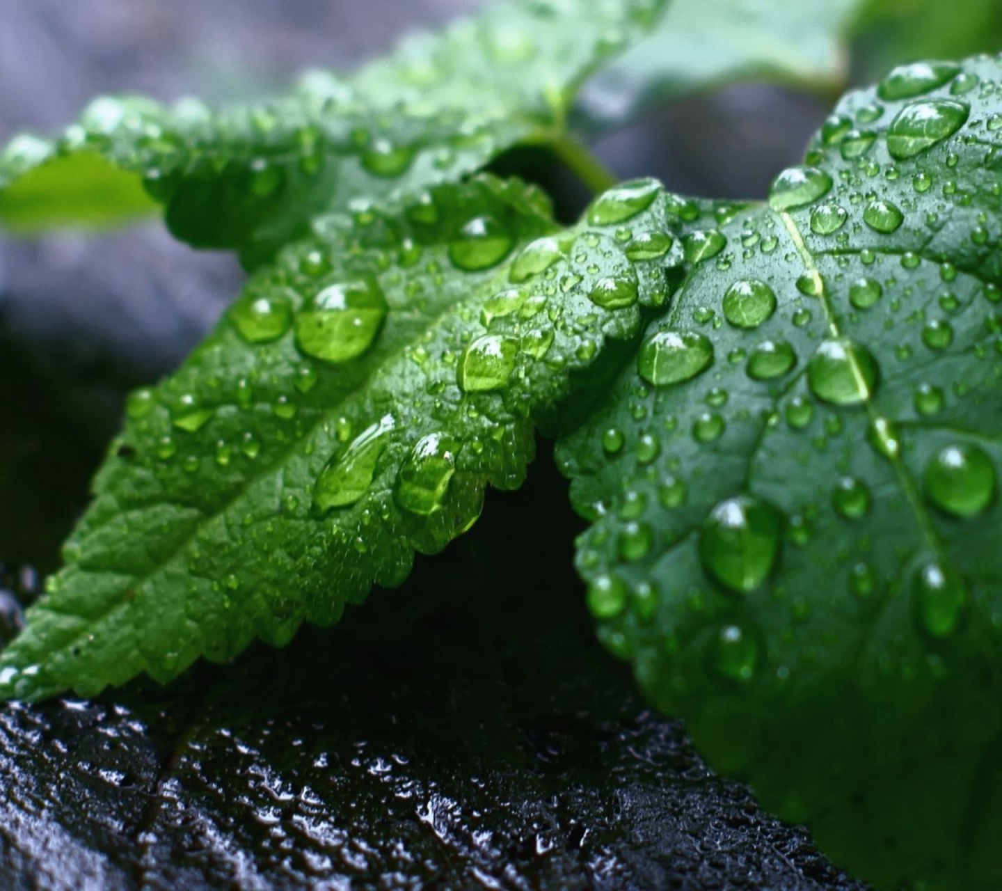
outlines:
{"label": "blurred droplet-covered leaf at upper left with bright yellow-green underside", "polygon": [[[580,82],[662,6],[492,5],[351,78],[309,74],[272,102],[213,111],[192,99],[102,97],[59,138],[22,136],[0,155],[0,222],[31,232],[125,219],[151,206],[137,199],[141,181],[178,239],[240,249],[255,266],[327,209],[391,206],[515,144],[558,141]],[[119,192],[129,199],[114,200]]]}

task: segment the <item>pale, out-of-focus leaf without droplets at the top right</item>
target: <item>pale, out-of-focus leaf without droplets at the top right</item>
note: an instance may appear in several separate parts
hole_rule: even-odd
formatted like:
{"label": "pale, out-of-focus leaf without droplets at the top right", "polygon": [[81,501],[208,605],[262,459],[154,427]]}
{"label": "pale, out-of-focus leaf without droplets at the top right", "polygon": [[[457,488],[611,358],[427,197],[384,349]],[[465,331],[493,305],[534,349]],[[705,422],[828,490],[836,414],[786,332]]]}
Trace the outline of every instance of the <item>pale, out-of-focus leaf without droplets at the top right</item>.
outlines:
{"label": "pale, out-of-focus leaf without droplets at the top right", "polygon": [[674,0],[654,32],[582,95],[588,128],[622,124],[669,99],[738,80],[831,89],[864,0]]}

